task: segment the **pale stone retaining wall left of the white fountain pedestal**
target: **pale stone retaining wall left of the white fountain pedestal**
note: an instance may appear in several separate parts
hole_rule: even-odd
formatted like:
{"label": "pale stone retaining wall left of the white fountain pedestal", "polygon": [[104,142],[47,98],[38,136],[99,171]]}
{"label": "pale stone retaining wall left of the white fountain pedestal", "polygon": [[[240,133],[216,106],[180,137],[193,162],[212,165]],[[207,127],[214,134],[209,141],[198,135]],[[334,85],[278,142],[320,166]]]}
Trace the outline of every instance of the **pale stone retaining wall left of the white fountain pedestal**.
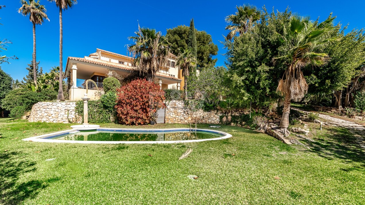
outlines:
{"label": "pale stone retaining wall left of the white fountain pedestal", "polygon": [[32,107],[29,122],[81,123],[75,114],[76,102],[38,102]]}

